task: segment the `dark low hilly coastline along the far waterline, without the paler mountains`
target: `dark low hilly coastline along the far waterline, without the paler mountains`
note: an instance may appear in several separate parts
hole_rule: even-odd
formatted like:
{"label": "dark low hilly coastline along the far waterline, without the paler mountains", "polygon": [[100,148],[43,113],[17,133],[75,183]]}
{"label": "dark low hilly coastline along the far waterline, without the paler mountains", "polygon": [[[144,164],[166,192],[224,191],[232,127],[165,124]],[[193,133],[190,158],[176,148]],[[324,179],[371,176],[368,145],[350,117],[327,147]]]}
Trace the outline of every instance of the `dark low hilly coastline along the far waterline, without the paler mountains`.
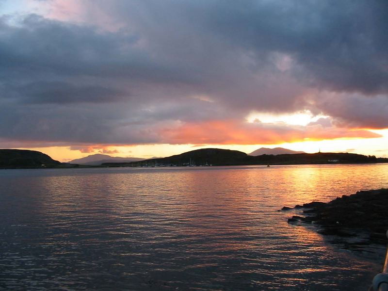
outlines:
{"label": "dark low hilly coastline along the far waterline, without the paler mountains", "polygon": [[246,153],[204,148],[166,158],[154,158],[134,162],[107,162],[101,165],[81,165],[58,162],[48,155],[32,150],[0,149],[0,169],[31,168],[93,168],[93,167],[185,167],[185,166],[231,166],[231,165],[292,165],[292,164],[366,164],[388,163],[387,158],[376,158],[351,153],[300,153],[250,156]]}

